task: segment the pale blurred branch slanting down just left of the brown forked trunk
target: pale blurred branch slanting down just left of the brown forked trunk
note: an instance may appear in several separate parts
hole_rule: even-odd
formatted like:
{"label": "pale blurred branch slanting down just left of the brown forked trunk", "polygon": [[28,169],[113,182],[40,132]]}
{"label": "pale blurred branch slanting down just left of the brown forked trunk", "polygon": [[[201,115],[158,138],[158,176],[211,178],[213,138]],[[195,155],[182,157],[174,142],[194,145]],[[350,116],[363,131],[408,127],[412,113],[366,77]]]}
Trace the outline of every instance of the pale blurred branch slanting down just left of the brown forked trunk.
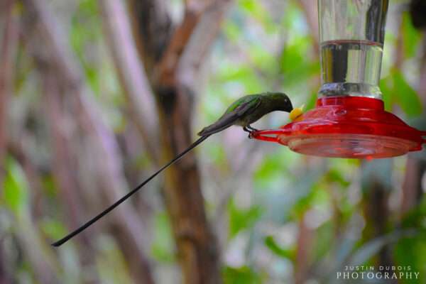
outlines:
{"label": "pale blurred branch slanting down just left of the brown forked trunk", "polygon": [[102,18],[112,58],[129,102],[133,121],[141,133],[147,155],[158,164],[158,114],[145,70],[138,60],[126,5],[119,0],[101,0]]}

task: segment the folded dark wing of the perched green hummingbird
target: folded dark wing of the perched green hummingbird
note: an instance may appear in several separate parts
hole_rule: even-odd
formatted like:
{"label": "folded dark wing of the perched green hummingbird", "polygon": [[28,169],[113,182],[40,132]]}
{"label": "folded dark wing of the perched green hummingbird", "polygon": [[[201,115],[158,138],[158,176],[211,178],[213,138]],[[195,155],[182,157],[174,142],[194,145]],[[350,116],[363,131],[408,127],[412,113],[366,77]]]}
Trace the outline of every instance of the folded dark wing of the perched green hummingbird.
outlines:
{"label": "folded dark wing of the perched green hummingbird", "polygon": [[233,125],[245,115],[249,115],[261,104],[260,97],[253,97],[253,99],[240,104],[232,111],[226,111],[225,114],[214,124],[204,127],[202,131],[198,133],[200,136],[212,135],[224,129],[227,129],[229,126]]}

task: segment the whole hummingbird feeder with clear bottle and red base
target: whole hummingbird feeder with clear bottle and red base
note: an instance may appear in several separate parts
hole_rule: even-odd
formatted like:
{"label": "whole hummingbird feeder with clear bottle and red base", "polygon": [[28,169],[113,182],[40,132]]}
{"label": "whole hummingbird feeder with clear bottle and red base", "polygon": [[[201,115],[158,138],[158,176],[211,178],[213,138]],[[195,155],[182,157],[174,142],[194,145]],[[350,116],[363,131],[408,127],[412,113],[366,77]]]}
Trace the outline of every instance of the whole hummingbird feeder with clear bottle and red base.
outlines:
{"label": "whole hummingbird feeder with clear bottle and red base", "polygon": [[391,158],[422,150],[419,131],[385,111],[380,79],[388,0],[319,0],[322,87],[315,109],[251,137],[306,155]]}

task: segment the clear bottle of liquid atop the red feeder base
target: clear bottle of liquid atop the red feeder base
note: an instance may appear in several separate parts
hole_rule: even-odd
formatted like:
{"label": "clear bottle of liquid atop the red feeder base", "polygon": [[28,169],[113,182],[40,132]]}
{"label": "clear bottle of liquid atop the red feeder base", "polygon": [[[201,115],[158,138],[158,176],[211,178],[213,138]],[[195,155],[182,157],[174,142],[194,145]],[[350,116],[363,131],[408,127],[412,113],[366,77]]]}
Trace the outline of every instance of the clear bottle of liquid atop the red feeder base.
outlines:
{"label": "clear bottle of liquid atop the red feeder base", "polygon": [[318,0],[320,96],[381,99],[378,87],[388,0]]}

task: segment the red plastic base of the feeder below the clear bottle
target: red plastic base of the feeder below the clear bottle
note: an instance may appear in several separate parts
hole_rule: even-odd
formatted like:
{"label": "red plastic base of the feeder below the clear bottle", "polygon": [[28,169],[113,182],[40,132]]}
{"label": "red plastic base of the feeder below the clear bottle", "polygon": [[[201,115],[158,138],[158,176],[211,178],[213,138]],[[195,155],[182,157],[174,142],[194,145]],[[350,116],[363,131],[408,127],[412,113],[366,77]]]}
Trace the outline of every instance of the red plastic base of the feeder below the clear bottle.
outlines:
{"label": "red plastic base of the feeder below the clear bottle", "polygon": [[306,155],[335,158],[390,158],[419,151],[426,131],[408,126],[384,110],[380,99],[323,97],[302,119],[277,130],[252,133]]}

